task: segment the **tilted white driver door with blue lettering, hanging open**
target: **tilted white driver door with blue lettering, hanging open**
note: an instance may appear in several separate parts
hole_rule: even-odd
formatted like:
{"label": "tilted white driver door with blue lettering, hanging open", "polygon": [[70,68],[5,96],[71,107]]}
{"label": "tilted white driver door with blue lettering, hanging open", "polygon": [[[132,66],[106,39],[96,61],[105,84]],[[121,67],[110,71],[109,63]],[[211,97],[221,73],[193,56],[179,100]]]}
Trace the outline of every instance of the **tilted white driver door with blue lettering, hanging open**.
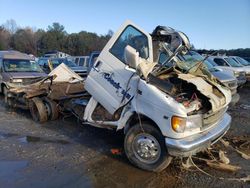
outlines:
{"label": "tilted white driver door with blue lettering, hanging open", "polygon": [[136,92],[139,77],[125,62],[127,45],[152,62],[151,36],[125,22],[104,47],[85,82],[85,89],[111,114],[128,103]]}

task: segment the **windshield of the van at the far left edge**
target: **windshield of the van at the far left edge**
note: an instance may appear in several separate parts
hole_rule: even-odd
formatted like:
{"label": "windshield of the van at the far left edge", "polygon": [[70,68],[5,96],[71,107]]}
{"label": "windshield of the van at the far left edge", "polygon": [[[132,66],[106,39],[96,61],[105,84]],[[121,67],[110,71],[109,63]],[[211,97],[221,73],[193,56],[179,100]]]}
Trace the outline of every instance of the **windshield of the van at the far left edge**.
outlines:
{"label": "windshield of the van at the far left edge", "polygon": [[3,65],[6,72],[43,72],[40,66],[31,60],[5,59]]}

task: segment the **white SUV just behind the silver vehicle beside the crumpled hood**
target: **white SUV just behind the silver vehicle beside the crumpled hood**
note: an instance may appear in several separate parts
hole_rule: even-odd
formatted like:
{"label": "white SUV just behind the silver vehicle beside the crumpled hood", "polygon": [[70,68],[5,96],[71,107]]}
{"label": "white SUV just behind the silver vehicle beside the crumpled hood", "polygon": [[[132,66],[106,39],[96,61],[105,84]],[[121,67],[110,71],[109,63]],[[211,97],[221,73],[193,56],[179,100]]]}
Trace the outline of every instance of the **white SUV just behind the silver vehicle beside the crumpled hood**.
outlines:
{"label": "white SUV just behind the silver vehicle beside the crumpled hood", "polygon": [[231,71],[238,80],[238,86],[246,83],[246,73],[242,65],[227,56],[210,56],[207,60],[217,69]]}

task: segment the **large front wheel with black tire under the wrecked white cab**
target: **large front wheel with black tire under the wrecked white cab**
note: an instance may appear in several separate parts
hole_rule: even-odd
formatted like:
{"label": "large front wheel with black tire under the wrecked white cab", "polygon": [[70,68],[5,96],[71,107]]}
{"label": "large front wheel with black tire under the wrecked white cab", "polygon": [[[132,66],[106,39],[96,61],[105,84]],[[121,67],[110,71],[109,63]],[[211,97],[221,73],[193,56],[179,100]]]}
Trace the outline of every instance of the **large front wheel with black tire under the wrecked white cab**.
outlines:
{"label": "large front wheel with black tire under the wrecked white cab", "polygon": [[[132,164],[143,170],[160,172],[165,169],[172,161],[172,157],[167,152],[164,137],[157,128],[150,125],[149,123],[143,122],[141,126],[136,124],[132,126],[126,133],[124,140],[126,156]],[[146,146],[146,151],[150,150],[150,152],[157,153],[156,156],[154,156],[155,153],[152,155],[152,160],[145,159],[145,156],[144,158],[140,156],[146,155],[143,153],[145,150],[140,150],[143,147],[145,148],[145,146],[140,145],[144,144],[143,142],[148,144]],[[152,145],[157,147],[153,147]],[[136,146],[138,147],[136,148]]]}

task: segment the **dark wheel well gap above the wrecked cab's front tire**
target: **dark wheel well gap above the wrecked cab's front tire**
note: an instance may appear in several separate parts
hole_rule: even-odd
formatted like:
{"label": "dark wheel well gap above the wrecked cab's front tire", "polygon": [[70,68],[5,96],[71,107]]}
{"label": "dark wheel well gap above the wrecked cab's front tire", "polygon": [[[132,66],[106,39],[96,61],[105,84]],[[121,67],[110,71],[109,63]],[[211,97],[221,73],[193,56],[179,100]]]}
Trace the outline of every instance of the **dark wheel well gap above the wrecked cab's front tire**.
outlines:
{"label": "dark wheel well gap above the wrecked cab's front tire", "polygon": [[[140,117],[140,119],[139,119]],[[141,122],[147,122],[150,123],[150,125],[154,126],[155,128],[157,128],[160,132],[160,128],[158,127],[158,125],[149,117],[143,115],[143,114],[137,114],[134,113],[129,120],[127,121],[125,127],[124,127],[124,133],[126,134],[128,132],[128,130],[130,129],[130,127],[132,127],[133,125],[135,125],[136,123],[140,123]],[[161,132],[162,133],[162,132]]]}

